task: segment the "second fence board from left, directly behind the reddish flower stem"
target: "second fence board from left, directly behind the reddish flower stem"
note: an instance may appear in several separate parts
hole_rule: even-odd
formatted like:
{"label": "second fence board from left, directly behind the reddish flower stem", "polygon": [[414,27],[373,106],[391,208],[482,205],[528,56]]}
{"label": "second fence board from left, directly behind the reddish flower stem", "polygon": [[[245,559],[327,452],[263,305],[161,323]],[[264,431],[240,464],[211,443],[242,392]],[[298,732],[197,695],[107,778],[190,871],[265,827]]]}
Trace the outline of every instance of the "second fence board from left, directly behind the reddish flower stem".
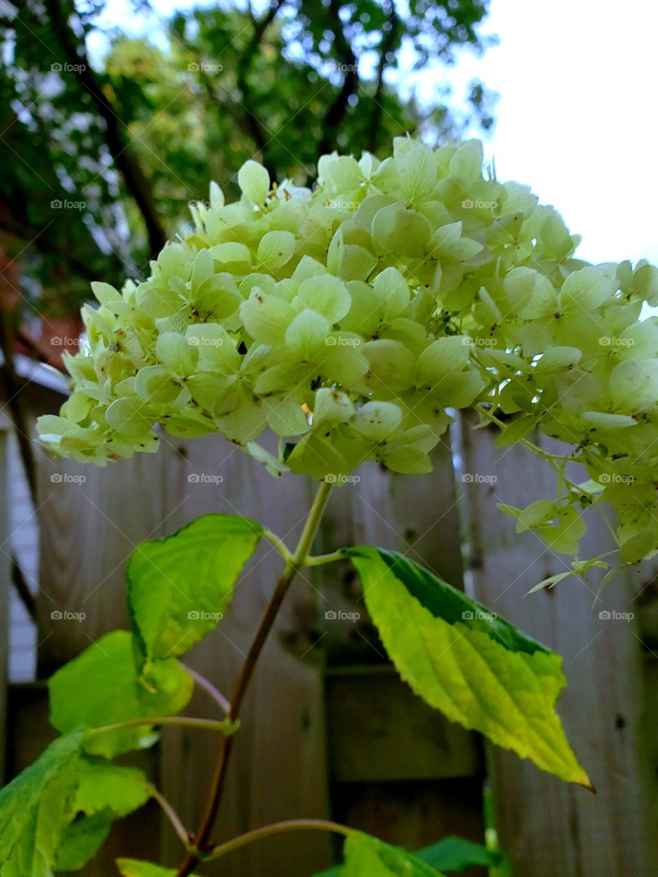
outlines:
{"label": "second fence board from left, directly behind the reddish flower stem", "polygon": [[[311,485],[288,476],[275,481],[263,468],[214,437],[168,446],[162,517],[170,532],[208,512],[244,514],[267,524],[294,545],[311,504]],[[219,475],[224,481],[204,481]],[[190,481],[198,476],[198,481]],[[227,695],[268,602],[282,560],[263,543],[235,588],[217,631],[188,656],[190,666]],[[314,617],[315,593],[293,585],[275,631],[254,674],[226,788],[218,837],[234,837],[261,824],[296,816],[327,816],[325,713],[318,660],[301,661],[283,645],[299,617]],[[209,705],[197,696],[199,709]],[[192,738],[192,734],[194,737]],[[218,739],[198,731],[172,730],[164,741],[163,789],[175,798],[186,824],[201,815]],[[224,877],[313,873],[328,863],[329,840],[321,833],[291,834],[251,845],[207,873]],[[180,844],[168,832],[165,858],[175,861]]]}

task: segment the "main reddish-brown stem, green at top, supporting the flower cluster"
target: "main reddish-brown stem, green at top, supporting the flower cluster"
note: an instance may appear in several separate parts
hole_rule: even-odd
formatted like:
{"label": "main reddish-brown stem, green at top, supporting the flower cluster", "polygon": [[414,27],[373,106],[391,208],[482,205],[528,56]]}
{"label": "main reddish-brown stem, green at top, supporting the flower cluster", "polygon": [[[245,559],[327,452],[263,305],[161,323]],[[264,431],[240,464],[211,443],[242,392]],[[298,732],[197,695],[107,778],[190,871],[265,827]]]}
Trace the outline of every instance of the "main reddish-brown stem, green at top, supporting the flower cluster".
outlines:
{"label": "main reddish-brown stem, green at top, supporting the flower cluster", "polygon": [[[238,677],[238,681],[236,682],[235,688],[233,690],[233,695],[231,698],[231,709],[227,716],[227,721],[231,723],[237,722],[238,718],[240,717],[242,702],[244,701],[245,695],[247,694],[247,688],[252,679],[252,676],[254,675],[254,669],[256,667],[258,659],[261,656],[263,646],[267,641],[269,632],[272,630],[272,626],[275,623],[276,616],[281,609],[283,599],[288,593],[288,588],[290,588],[290,584],[297,575],[300,567],[304,566],[304,562],[308,556],[309,551],[311,550],[313,539],[318,532],[318,526],[325,512],[326,503],[329,499],[329,493],[331,491],[331,488],[331,484],[328,484],[326,481],[320,482],[318,493],[313,500],[311,511],[306,518],[304,530],[302,531],[302,535],[300,536],[299,542],[297,543],[297,548],[295,549],[295,552],[290,556],[290,559],[286,560],[286,565],[285,567],[283,567],[283,573],[279,577],[279,581],[277,581],[276,583],[274,594],[272,595],[268,603],[268,608],[265,610],[265,615],[262,617],[261,624],[258,628],[258,631],[256,632],[254,641],[249,647],[249,651],[247,652],[247,658],[242,665],[242,669],[240,670],[240,676]],[[232,737],[225,737],[222,741],[217,766],[215,767],[215,773],[212,778],[211,795],[206,805],[201,824],[199,825],[197,832],[194,836],[194,848],[197,851],[201,852],[201,855],[198,855],[197,852],[190,852],[190,855],[182,862],[182,865],[179,867],[176,873],[176,877],[188,877],[192,870],[197,866],[198,862],[203,858],[204,852],[208,849],[208,840],[210,838],[212,828],[215,824],[215,820],[217,819],[219,805],[222,801],[222,797],[225,791],[226,774],[228,771],[229,763],[231,761],[232,749]]]}

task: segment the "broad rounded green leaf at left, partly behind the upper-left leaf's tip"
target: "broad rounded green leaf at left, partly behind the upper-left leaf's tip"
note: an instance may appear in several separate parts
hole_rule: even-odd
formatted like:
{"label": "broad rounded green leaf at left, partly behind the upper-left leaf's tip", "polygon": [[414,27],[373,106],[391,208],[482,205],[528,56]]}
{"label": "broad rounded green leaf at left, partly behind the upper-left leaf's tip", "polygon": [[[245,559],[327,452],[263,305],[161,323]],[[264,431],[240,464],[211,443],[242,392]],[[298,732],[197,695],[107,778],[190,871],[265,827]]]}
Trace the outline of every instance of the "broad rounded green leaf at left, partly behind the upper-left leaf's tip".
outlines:
{"label": "broad rounded green leaf at left, partly behind the upper-left leaf's tip", "polygon": [[[190,701],[193,682],[175,658],[157,661],[157,682],[147,687],[137,675],[132,634],[112,631],[89,645],[48,681],[50,721],[63,732],[101,728],[135,718],[175,715]],[[90,735],[83,748],[111,759],[155,741],[143,725]]]}

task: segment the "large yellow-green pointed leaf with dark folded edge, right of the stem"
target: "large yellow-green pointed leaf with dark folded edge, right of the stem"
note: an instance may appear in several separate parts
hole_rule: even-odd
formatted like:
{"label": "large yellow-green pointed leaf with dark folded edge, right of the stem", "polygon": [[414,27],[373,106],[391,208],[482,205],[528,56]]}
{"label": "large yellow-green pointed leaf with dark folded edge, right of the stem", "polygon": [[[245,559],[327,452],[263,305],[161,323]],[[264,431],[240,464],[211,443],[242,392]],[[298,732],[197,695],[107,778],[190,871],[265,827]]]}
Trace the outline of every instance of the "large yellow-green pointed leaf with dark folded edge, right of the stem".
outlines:
{"label": "large yellow-green pointed leaf with dark folded edge, right of the stem", "polygon": [[561,657],[400,554],[345,549],[398,673],[453,722],[591,788],[554,710]]}

